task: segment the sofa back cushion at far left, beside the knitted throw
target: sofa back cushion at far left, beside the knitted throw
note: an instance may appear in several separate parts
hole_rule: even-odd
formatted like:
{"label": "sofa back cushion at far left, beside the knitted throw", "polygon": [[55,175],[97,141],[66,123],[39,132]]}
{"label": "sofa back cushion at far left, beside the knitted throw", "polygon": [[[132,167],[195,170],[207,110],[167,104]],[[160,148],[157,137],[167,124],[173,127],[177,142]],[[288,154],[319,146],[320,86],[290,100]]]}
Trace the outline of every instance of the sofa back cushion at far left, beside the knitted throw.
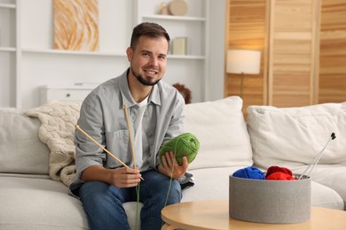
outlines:
{"label": "sofa back cushion at far left, beside the knitted throw", "polygon": [[0,173],[48,174],[50,151],[38,139],[38,119],[0,111]]}

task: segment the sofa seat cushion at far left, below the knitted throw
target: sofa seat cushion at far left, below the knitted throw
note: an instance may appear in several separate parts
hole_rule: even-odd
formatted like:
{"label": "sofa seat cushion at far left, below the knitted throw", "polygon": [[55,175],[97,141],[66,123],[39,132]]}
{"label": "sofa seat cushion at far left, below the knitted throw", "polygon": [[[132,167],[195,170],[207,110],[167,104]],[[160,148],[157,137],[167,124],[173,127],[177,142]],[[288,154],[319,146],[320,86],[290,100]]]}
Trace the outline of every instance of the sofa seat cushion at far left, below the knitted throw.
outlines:
{"label": "sofa seat cushion at far left, below the knitted throw", "polygon": [[89,229],[82,203],[45,178],[0,175],[1,229]]}

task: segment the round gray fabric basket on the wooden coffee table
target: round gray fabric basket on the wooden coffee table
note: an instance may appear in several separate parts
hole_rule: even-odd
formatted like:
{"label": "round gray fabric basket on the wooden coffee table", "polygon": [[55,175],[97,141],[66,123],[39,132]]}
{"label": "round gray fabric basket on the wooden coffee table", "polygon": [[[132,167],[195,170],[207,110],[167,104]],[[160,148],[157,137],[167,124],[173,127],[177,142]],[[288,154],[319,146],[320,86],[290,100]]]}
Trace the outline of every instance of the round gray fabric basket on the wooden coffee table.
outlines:
{"label": "round gray fabric basket on the wooden coffee table", "polygon": [[251,180],[231,175],[229,196],[233,219],[276,224],[311,219],[311,179],[306,176],[302,180]]}

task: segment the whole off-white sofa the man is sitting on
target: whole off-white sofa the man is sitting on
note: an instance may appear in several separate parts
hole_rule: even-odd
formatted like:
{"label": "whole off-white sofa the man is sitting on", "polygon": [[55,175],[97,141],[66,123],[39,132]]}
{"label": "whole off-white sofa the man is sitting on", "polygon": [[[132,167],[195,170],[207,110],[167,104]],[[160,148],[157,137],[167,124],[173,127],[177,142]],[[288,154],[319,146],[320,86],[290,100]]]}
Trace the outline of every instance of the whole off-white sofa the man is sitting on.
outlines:
{"label": "whole off-white sofa the man is sitting on", "polygon": [[[346,200],[346,103],[278,109],[250,106],[247,123],[238,96],[186,105],[186,132],[201,149],[190,165],[195,185],[182,202],[227,200],[229,175],[256,165],[302,173],[334,132],[311,173],[311,203],[344,210]],[[51,180],[50,149],[40,141],[40,120],[23,111],[0,111],[0,229],[89,229],[82,203]],[[299,196],[299,195],[297,195]],[[131,225],[136,203],[126,203]]]}

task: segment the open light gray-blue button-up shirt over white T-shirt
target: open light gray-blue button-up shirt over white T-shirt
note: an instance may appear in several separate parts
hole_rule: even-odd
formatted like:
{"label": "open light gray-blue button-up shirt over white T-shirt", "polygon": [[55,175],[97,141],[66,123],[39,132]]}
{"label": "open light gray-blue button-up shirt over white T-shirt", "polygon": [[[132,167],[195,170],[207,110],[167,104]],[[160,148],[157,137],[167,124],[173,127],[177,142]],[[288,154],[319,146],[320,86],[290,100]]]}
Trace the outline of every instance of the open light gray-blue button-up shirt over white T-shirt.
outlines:
{"label": "open light gray-blue button-up shirt over white T-shirt", "polygon": [[[85,98],[78,125],[115,157],[130,166],[132,153],[123,106],[127,104],[129,107],[133,135],[132,127],[138,105],[130,95],[128,72],[129,69],[121,76],[102,83]],[[142,121],[142,128],[145,130],[143,140],[147,140],[143,148],[147,169],[156,168],[159,164],[158,152],[164,143],[185,132],[184,107],[184,98],[176,88],[162,80],[153,86]],[[81,174],[91,165],[103,165],[106,168],[122,166],[80,131],[75,131],[75,146],[77,173],[75,182],[70,186],[72,191],[83,183]]]}

